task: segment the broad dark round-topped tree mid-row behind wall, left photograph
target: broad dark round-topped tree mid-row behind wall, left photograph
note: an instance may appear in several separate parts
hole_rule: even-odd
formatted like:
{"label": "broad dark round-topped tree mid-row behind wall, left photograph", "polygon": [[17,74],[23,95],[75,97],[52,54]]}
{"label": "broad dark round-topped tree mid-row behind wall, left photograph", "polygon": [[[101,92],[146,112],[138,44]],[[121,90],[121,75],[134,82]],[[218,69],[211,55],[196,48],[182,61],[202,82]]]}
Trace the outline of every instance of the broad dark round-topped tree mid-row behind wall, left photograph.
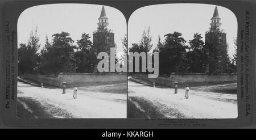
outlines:
{"label": "broad dark round-topped tree mid-row behind wall, left photograph", "polygon": [[68,37],[68,32],[55,33],[52,35],[52,44],[46,42],[43,50],[42,65],[44,74],[72,73],[75,72],[76,65],[73,57],[74,41]]}

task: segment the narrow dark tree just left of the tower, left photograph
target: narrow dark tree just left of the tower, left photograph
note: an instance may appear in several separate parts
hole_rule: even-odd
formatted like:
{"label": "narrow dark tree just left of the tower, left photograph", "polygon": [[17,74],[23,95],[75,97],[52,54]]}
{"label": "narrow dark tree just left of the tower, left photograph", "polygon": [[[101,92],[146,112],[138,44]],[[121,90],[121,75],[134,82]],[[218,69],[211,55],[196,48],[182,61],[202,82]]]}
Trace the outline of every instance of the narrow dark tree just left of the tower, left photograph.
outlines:
{"label": "narrow dark tree just left of the tower, left photograph", "polygon": [[96,63],[96,55],[92,49],[92,41],[89,34],[82,33],[81,39],[77,40],[77,49],[74,56],[77,63],[77,73],[92,73]]}

